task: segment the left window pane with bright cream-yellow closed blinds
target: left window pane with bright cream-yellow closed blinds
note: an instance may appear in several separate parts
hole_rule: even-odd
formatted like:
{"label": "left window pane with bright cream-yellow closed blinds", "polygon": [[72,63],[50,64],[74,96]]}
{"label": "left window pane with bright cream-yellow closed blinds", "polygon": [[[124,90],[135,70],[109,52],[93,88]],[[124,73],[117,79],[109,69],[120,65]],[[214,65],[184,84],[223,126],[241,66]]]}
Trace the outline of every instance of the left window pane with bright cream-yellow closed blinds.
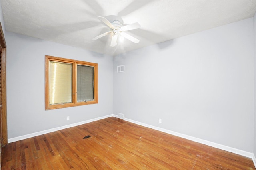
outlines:
{"label": "left window pane with bright cream-yellow closed blinds", "polygon": [[72,102],[72,64],[50,61],[49,103]]}

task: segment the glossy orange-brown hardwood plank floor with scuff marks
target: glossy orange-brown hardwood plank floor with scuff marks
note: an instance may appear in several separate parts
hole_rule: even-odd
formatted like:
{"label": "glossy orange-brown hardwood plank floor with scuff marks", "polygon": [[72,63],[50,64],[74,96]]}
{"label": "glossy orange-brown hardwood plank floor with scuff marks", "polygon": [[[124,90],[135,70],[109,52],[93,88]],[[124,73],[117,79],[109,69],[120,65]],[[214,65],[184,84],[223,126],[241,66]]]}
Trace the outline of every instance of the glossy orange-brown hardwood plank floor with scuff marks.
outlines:
{"label": "glossy orange-brown hardwood plank floor with scuff marks", "polygon": [[[85,136],[91,137],[83,139]],[[6,145],[2,170],[255,170],[250,158],[110,117]]]}

